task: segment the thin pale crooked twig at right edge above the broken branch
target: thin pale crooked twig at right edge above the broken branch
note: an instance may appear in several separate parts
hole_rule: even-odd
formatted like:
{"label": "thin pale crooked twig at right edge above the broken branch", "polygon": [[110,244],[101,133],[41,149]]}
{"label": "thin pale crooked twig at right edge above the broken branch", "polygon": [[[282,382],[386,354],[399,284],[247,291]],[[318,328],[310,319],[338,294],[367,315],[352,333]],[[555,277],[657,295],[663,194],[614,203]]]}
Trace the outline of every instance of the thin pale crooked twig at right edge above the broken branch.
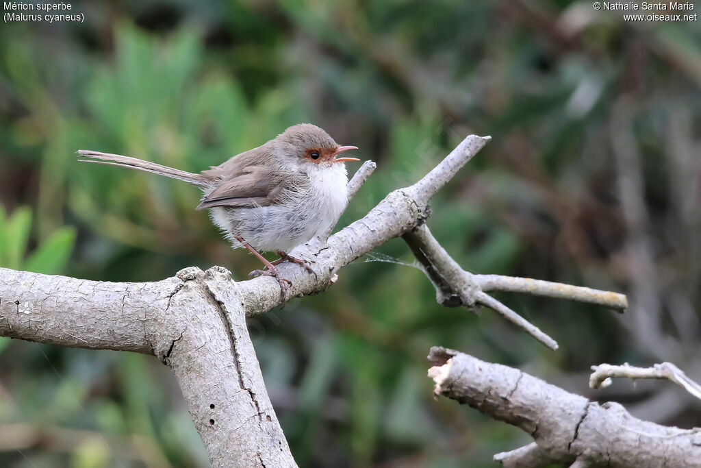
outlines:
{"label": "thin pale crooked twig at right edge above the broken branch", "polygon": [[594,372],[589,377],[589,386],[594,390],[608,387],[613,383],[611,380],[613,378],[624,377],[633,380],[662,379],[674,382],[697,399],[701,399],[701,385],[687,377],[683,370],[674,366],[671,362],[663,362],[647,368],[629,366],[628,363],[622,366],[599,364],[599,366],[592,366],[592,370]]}

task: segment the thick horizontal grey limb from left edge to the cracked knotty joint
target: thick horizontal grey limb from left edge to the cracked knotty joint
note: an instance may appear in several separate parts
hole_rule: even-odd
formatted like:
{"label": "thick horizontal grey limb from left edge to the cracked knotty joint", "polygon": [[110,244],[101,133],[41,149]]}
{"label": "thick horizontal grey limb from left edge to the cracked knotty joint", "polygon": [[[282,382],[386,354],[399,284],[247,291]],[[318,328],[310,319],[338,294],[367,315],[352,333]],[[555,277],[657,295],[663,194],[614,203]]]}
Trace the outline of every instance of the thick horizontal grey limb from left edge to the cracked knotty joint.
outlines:
{"label": "thick horizontal grey limb from left edge to the cracked knotty joint", "polygon": [[152,354],[182,281],[103,283],[0,268],[0,335],[51,345]]}

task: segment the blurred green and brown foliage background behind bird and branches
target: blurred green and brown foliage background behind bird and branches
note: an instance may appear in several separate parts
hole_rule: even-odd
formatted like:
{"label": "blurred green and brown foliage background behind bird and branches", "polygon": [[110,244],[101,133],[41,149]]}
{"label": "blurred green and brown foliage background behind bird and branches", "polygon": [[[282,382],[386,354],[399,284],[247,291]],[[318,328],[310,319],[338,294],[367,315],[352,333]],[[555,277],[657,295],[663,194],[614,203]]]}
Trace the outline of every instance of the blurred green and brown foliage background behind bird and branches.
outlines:
{"label": "blurred green and brown foliage background behind bird and branches", "polygon": [[[700,22],[624,22],[565,0],[74,1],[69,13],[84,22],[0,25],[0,266],[152,281],[222,265],[245,279],[259,264],[193,210],[197,189],[74,152],[200,171],[308,121],[378,163],[340,226],[465,135],[491,135],[433,199],[442,245],[472,272],[629,295],[623,315],[498,296],[559,341],[550,352],[493,312],[436,305],[390,241],[326,293],[250,322],[300,466],[492,467],[530,442],[434,400],[432,345],[701,425],[701,403],[669,383],[587,389],[602,362],[672,361],[701,380]],[[0,466],[205,467],[207,455],[157,359],[0,338]]]}

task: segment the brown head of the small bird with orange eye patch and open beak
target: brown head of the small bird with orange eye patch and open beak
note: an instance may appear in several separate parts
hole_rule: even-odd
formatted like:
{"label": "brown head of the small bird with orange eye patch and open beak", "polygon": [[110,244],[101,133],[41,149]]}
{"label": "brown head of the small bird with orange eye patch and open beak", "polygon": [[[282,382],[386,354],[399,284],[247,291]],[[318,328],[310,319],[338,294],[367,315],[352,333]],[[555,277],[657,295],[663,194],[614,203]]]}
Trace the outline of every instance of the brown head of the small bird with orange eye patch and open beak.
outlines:
{"label": "brown head of the small bird with orange eye patch and open beak", "polygon": [[338,157],[355,146],[341,146],[322,128],[311,123],[300,123],[287,128],[275,138],[275,149],[290,158],[312,164],[333,164],[360,161],[358,158]]}

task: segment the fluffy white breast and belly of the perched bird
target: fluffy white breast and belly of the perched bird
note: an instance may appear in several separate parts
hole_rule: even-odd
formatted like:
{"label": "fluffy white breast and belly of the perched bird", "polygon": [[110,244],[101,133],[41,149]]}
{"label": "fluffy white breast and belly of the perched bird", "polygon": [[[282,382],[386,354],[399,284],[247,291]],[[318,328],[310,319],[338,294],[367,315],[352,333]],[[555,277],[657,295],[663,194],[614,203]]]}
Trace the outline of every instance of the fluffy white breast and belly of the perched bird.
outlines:
{"label": "fluffy white breast and belly of the perched bird", "polygon": [[289,252],[321,234],[338,218],[348,202],[348,177],[343,164],[311,168],[308,183],[297,187],[281,203],[255,208],[212,208],[212,220],[240,247],[243,237],[258,250]]}

